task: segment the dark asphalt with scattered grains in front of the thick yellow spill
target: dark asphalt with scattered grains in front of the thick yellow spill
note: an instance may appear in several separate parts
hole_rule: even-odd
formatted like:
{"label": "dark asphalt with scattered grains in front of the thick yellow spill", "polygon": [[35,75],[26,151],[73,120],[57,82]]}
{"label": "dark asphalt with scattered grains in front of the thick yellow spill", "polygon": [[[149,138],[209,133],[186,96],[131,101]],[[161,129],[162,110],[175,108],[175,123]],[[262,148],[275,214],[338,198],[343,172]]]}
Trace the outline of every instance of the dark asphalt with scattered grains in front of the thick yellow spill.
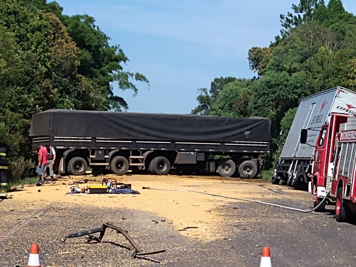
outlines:
{"label": "dark asphalt with scattered grains in front of the thick yellow spill", "polygon": [[[301,201],[284,193],[276,203],[308,209],[310,196],[305,195],[306,200]],[[21,213],[6,211],[14,206],[10,201],[13,200],[0,203],[1,232],[13,229],[11,235],[0,239],[0,262],[4,267],[26,266],[32,242],[40,244],[42,267],[259,266],[263,246],[271,248],[272,266],[355,266],[356,262],[356,226],[337,223],[334,206],[327,206],[330,212],[323,214],[305,214],[231,201],[218,208],[224,238],[203,242],[180,235],[169,220],[143,211],[59,202],[42,213],[38,213],[41,209]],[[34,214],[38,218],[16,220]],[[14,230],[19,221],[27,224]],[[85,244],[84,237],[68,239],[64,244],[60,241],[74,231],[95,228],[105,222],[126,229],[143,251],[166,248],[166,252],[151,256],[161,263],[132,259],[130,250],[125,248],[130,244],[112,231],[107,231],[105,242],[100,244]]]}

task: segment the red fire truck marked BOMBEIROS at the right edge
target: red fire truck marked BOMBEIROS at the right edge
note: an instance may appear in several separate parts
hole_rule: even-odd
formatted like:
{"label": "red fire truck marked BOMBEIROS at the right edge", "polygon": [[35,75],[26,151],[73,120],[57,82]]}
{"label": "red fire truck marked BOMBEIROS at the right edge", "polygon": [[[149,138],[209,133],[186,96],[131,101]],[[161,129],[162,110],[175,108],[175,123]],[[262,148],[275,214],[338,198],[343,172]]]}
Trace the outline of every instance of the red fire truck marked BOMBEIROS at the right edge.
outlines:
{"label": "red fire truck marked BOMBEIROS at the right edge", "polygon": [[[350,221],[356,211],[356,117],[332,113],[320,130],[303,129],[300,142],[307,144],[308,131],[320,131],[315,145],[309,192],[316,207],[329,193],[335,202],[336,221]],[[311,146],[311,145],[310,145]],[[316,211],[323,211],[325,201]]]}

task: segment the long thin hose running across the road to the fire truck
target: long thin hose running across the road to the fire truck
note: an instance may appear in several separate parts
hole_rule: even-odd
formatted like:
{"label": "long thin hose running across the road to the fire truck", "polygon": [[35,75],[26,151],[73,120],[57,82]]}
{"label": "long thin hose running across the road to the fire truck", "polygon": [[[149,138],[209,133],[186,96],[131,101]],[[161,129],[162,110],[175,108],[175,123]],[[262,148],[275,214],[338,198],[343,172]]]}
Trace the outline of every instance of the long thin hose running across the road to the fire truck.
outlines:
{"label": "long thin hose running across the road to the fire truck", "polygon": [[213,196],[213,197],[230,198],[230,199],[241,200],[241,201],[249,201],[249,202],[253,202],[253,203],[264,204],[264,205],[269,205],[269,206],[275,206],[275,207],[278,207],[278,208],[283,208],[283,209],[288,209],[288,210],[295,210],[295,211],[304,212],[304,213],[309,213],[309,212],[312,212],[312,211],[318,209],[319,206],[321,206],[321,205],[324,203],[324,201],[326,201],[326,198],[327,198],[328,195],[330,194],[330,190],[329,190],[328,193],[326,193],[326,195],[325,195],[325,197],[323,198],[323,200],[321,200],[320,203],[319,203],[318,205],[316,205],[313,209],[302,210],[302,209],[292,208],[292,207],[283,206],[283,205],[278,205],[278,204],[274,204],[274,203],[268,203],[268,202],[263,202],[263,201],[248,199],[248,198],[237,198],[237,197],[231,197],[231,196],[227,196],[227,195],[217,195],[217,194],[212,194],[212,193],[208,193],[208,192],[200,192],[200,191],[195,191],[195,190],[187,190],[187,189],[160,189],[160,188],[150,188],[150,187],[142,187],[142,189],[163,190],[163,191],[183,191],[183,192],[199,193],[199,194],[204,194],[204,195],[211,195],[211,196]]}

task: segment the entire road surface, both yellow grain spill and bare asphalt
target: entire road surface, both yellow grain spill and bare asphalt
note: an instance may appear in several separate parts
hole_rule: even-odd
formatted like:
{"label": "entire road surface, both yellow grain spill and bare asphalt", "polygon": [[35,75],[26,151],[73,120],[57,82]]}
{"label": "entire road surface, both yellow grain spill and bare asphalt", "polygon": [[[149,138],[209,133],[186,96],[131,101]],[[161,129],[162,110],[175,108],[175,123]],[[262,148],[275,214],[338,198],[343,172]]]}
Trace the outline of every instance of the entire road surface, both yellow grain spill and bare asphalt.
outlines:
{"label": "entire road surface, both yellow grain spill and bare asphalt", "polygon": [[[41,266],[258,266],[269,246],[273,266],[354,266],[356,226],[336,223],[326,213],[303,214],[209,195],[157,191],[188,189],[251,198],[296,208],[311,207],[311,196],[261,180],[202,176],[72,177],[101,184],[105,177],[132,184],[139,195],[66,195],[70,177],[41,187],[25,186],[0,202],[1,266],[26,266],[32,242],[40,245]],[[40,192],[38,192],[40,190]],[[132,259],[129,242],[106,231],[102,243],[62,237],[112,223],[127,230],[143,251],[161,263]],[[185,227],[196,227],[185,231]]]}

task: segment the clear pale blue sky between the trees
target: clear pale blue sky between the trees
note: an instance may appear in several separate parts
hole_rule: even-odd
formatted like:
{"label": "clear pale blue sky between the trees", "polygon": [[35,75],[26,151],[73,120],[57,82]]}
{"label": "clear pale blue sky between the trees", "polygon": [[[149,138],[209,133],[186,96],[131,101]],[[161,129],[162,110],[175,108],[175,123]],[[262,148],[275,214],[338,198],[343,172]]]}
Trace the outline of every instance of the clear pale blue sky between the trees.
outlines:
{"label": "clear pale blue sky between the trees", "polygon": [[[299,0],[57,0],[67,15],[88,14],[118,44],[151,88],[136,83],[124,97],[132,112],[190,113],[197,90],[215,77],[253,77],[247,53],[268,46],[281,29],[279,14]],[[328,2],[328,1],[326,1]],[[344,0],[355,13],[356,1]]]}

